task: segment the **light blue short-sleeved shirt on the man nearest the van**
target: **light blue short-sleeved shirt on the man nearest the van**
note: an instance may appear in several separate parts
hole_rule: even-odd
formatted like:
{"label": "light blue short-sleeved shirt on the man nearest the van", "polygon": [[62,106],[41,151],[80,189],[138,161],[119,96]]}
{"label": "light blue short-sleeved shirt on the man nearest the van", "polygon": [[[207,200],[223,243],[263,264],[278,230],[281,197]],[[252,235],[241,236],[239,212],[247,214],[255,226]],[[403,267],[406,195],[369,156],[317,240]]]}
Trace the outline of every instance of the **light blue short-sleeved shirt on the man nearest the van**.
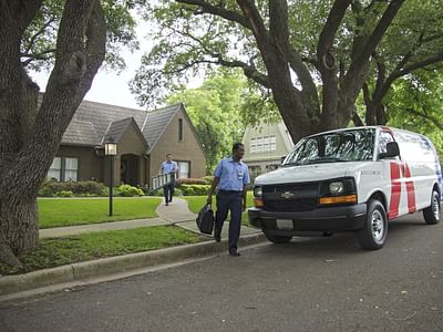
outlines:
{"label": "light blue short-sleeved shirt on the man nearest the van", "polygon": [[234,162],[233,157],[224,158],[214,170],[214,176],[219,178],[218,189],[243,191],[249,184],[248,166],[241,160]]}

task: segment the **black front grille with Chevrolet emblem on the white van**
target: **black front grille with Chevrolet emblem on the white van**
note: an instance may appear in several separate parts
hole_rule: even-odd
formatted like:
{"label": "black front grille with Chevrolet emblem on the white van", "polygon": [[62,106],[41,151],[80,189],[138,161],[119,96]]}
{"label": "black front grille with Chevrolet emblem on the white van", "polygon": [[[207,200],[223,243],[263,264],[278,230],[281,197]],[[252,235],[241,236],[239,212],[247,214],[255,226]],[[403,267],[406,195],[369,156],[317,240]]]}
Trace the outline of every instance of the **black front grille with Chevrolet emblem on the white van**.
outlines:
{"label": "black front grille with Chevrolet emblem on the white van", "polygon": [[307,211],[318,206],[319,183],[264,186],[264,208],[269,211]]}

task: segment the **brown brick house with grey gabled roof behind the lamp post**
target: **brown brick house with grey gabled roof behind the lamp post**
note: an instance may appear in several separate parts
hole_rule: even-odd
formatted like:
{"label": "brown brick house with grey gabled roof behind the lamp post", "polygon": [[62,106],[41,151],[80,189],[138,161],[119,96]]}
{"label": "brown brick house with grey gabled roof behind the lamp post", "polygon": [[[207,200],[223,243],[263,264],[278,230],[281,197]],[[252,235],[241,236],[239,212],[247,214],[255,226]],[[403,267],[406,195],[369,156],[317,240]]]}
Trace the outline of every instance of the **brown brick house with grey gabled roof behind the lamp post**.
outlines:
{"label": "brown brick house with grey gabled roof behind the lamp post", "polygon": [[117,144],[115,184],[148,185],[167,153],[178,163],[178,177],[205,176],[206,156],[183,104],[148,112],[83,101],[48,177],[109,184],[111,160],[104,156],[104,143],[110,138]]}

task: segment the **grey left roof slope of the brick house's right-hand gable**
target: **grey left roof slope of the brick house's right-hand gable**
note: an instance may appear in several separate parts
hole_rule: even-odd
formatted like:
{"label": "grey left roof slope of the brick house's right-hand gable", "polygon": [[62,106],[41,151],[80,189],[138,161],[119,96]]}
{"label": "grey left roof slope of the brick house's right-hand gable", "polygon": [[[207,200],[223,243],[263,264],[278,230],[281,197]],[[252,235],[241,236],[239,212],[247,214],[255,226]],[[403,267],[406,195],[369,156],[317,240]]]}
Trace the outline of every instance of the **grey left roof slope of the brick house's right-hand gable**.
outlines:
{"label": "grey left roof slope of the brick house's right-hand gable", "polygon": [[166,129],[181,107],[182,104],[176,104],[147,112],[147,117],[144,126],[142,127],[142,133],[150,145],[150,152],[154,148],[163,132]]}

